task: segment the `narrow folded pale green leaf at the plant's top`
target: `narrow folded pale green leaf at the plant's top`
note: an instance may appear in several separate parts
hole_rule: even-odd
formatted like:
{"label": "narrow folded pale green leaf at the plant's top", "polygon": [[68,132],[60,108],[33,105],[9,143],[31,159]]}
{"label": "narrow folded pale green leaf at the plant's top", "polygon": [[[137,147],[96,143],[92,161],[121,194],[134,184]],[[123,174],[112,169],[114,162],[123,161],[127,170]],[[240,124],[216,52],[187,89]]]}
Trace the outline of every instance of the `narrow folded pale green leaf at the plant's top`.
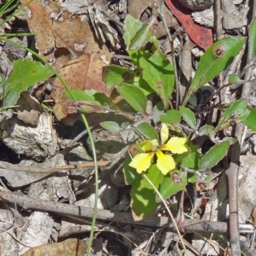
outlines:
{"label": "narrow folded pale green leaf at the plant's top", "polygon": [[150,40],[150,37],[154,33],[154,26],[157,23],[156,16],[151,16],[150,19],[145,22],[141,28],[136,32],[134,37],[131,40],[131,43],[128,47],[129,50],[135,50],[137,48],[143,47]]}

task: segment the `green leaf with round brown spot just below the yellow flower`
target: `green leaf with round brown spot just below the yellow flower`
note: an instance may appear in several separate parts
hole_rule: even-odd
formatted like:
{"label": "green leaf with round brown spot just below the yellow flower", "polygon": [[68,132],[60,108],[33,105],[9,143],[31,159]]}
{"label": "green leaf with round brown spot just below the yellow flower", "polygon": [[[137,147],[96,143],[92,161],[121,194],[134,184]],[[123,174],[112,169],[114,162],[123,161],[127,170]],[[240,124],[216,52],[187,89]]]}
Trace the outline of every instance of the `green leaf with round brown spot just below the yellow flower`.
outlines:
{"label": "green leaf with round brown spot just below the yellow flower", "polygon": [[[164,199],[175,195],[180,190],[186,188],[187,177],[182,170],[173,170],[170,175],[163,177],[160,183],[159,192]],[[161,202],[159,195],[156,195],[156,202]]]}

